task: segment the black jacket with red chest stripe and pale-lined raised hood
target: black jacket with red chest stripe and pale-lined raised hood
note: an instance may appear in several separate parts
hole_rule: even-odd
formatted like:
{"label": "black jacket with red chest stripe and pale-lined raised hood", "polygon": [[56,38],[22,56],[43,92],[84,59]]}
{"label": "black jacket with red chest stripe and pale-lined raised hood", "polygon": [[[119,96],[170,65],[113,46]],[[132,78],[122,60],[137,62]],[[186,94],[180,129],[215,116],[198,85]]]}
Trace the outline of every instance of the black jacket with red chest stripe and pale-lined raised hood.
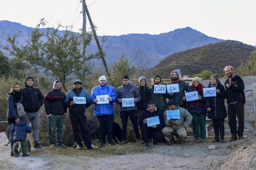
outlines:
{"label": "black jacket with red chest stripe and pale-lined raised hood", "polygon": [[52,86],[53,90],[48,92],[45,96],[45,109],[47,115],[62,115],[64,113],[67,113],[67,106],[64,104],[66,96],[62,91],[60,91],[61,83],[60,89],[56,90],[55,84],[57,82],[60,83],[60,81],[56,80]]}

